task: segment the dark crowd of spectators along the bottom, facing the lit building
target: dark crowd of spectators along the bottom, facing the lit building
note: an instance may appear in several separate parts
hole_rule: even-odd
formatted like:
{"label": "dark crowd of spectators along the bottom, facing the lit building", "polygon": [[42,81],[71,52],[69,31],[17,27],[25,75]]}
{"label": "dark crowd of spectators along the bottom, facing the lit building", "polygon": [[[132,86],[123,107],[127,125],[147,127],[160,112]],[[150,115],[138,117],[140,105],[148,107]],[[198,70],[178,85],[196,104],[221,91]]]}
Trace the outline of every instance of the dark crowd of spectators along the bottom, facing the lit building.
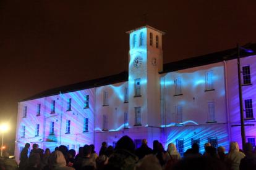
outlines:
{"label": "dark crowd of spectators along the bottom, facing the lit building", "polygon": [[[210,143],[205,144],[205,152],[199,152],[198,144],[193,144],[181,156],[176,145],[168,145],[164,150],[158,140],[153,141],[153,148],[148,147],[147,139],[135,149],[132,139],[123,136],[116,143],[116,147],[102,143],[100,152],[95,152],[94,145],[84,145],[79,153],[64,145],[56,147],[54,152],[49,148],[44,151],[33,144],[28,155],[30,144],[25,144],[20,153],[19,169],[256,169],[256,153],[251,144],[245,144],[244,150],[239,150],[237,142],[231,142],[229,152],[224,147],[215,148]],[[2,169],[17,169],[17,163],[11,162],[9,155],[1,161]]]}

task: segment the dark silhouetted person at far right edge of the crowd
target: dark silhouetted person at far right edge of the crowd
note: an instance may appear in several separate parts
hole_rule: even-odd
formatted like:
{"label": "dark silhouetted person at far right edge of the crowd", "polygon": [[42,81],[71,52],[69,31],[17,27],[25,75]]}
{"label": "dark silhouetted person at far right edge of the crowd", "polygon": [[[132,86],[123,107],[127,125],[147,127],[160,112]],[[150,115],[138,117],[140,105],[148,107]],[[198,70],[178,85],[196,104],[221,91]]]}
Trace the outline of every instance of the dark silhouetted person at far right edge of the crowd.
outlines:
{"label": "dark silhouetted person at far right edge of the crowd", "polygon": [[240,162],[240,170],[256,169],[256,154],[253,152],[252,144],[246,143],[244,147],[245,157]]}

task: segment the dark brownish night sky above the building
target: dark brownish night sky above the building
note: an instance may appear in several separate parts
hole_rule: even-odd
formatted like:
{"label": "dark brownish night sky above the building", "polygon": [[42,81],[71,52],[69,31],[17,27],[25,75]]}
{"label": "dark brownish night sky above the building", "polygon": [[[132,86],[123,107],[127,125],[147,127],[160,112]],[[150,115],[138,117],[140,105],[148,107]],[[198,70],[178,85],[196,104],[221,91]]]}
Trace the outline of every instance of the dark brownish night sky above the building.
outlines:
{"label": "dark brownish night sky above the building", "polygon": [[145,13],[166,32],[168,63],[256,42],[255,7],[253,0],[1,0],[0,121],[14,134],[19,100],[127,70],[125,32],[144,25]]}

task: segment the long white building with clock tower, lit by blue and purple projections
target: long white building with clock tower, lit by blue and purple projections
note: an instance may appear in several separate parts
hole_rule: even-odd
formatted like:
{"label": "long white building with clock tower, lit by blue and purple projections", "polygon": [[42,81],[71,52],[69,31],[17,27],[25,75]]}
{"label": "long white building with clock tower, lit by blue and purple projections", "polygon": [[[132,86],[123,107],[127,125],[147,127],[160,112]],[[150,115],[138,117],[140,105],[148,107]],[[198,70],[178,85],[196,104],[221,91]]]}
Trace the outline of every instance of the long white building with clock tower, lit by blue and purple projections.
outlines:
{"label": "long white building with clock tower, lit by blue and purple projections", "polygon": [[[128,31],[129,72],[58,87],[19,102],[15,156],[26,142],[51,150],[66,145],[115,145],[128,135],[170,142],[179,152],[197,142],[241,145],[236,49],[163,65],[162,31]],[[250,46],[256,49],[255,44]],[[242,53],[245,132],[255,144],[255,55]]]}

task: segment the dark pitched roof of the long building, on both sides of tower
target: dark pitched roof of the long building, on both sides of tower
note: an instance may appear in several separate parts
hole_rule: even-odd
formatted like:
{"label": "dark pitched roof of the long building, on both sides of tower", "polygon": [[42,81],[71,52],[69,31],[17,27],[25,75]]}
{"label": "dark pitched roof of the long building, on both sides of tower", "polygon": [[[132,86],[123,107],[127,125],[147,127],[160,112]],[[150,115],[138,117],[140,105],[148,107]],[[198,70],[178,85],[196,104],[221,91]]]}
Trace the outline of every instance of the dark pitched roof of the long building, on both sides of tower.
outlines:
{"label": "dark pitched roof of the long building, on both sides of tower", "polygon": [[[252,49],[254,53],[250,54],[241,50],[240,52],[241,57],[247,57],[249,55],[256,54],[256,44],[248,44],[246,48]],[[220,51],[212,54],[192,57],[190,59],[179,60],[177,62],[166,63],[163,65],[163,71],[161,73],[168,73],[171,71],[183,70],[186,68],[198,67],[198,66],[207,65],[210,63],[217,63],[217,62],[222,62],[223,60],[231,60],[236,58],[237,58],[237,48],[228,49],[226,51]],[[91,79],[88,81],[70,84],[67,86],[56,87],[54,89],[49,89],[47,91],[40,92],[39,94],[33,95],[32,97],[28,97],[27,99],[24,99],[22,101],[38,99],[41,97],[47,97],[47,96],[56,95],[59,93],[80,91],[83,89],[90,89],[93,87],[105,86],[108,84],[120,83],[124,81],[128,81],[127,71],[123,71],[122,73],[119,73],[117,75],[106,76],[104,78]]]}

